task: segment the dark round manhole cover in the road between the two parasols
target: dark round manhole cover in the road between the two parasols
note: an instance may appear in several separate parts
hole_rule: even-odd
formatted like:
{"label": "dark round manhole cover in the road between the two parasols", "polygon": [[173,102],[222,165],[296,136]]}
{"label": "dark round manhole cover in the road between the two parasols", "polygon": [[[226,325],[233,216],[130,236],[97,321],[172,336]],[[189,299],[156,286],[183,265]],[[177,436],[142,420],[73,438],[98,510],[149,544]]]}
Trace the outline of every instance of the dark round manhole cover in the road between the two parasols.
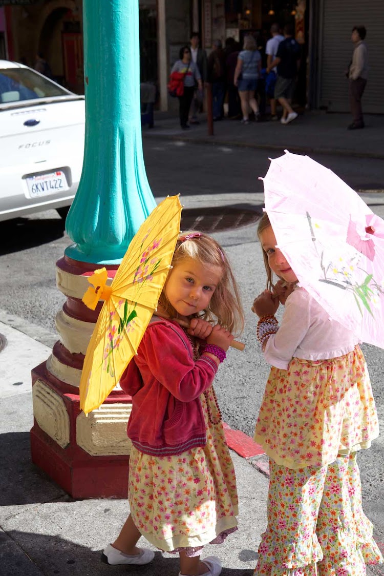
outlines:
{"label": "dark round manhole cover in the road between the two parasols", "polygon": [[222,232],[253,224],[261,215],[261,211],[236,206],[185,208],[181,213],[181,230],[201,230],[208,234]]}

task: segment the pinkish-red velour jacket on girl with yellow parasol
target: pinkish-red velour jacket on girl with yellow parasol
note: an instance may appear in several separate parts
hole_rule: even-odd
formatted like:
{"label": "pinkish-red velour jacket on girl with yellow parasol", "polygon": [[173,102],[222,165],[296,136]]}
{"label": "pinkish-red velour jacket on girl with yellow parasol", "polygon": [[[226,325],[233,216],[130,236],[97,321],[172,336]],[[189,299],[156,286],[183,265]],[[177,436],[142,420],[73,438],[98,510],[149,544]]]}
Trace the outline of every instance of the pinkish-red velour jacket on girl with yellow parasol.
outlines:
{"label": "pinkish-red velour jacket on girl with yellow parasol", "polygon": [[215,373],[204,360],[193,360],[191,343],[178,324],[154,316],[120,380],[132,396],[127,427],[132,444],[152,456],[205,446],[199,396],[212,385]]}

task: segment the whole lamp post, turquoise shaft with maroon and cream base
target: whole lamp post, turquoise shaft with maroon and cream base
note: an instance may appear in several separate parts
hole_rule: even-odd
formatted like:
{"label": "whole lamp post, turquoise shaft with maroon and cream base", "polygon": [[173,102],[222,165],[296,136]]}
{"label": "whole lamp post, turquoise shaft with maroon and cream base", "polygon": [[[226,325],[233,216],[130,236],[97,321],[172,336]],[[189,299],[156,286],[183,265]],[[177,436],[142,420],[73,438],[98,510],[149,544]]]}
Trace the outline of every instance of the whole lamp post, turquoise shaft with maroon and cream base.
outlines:
{"label": "whole lamp post, turquoise shaft with maroon and cream base", "polygon": [[113,279],[155,207],[142,151],[138,12],[138,0],[83,0],[85,156],[67,216],[75,244],[56,263],[66,296],[56,314],[60,338],[32,370],[32,461],[73,498],[125,498],[128,490],[131,397],[115,389],[85,418],[78,387],[102,305],[82,303],[88,278],[105,266]]}

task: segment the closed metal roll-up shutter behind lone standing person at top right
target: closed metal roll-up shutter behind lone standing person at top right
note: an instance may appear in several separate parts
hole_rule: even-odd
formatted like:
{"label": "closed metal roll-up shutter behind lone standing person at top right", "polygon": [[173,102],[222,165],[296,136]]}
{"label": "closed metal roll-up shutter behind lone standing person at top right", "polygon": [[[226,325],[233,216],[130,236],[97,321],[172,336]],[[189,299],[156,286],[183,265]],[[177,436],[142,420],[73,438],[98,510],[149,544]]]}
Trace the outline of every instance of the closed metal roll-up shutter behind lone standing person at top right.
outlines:
{"label": "closed metal roll-up shutter behind lone standing person at top right", "polygon": [[353,26],[367,29],[368,82],[363,111],[384,113],[384,2],[383,0],[323,0],[320,40],[320,106],[330,112],[348,112],[348,80]]}

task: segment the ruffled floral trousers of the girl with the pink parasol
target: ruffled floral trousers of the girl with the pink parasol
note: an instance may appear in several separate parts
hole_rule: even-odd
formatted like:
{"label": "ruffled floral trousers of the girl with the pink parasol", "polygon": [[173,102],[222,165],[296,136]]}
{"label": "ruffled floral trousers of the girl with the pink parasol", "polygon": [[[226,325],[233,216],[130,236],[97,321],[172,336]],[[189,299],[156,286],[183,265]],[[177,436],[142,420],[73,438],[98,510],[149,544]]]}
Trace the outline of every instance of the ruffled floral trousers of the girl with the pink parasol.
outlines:
{"label": "ruffled floral trousers of the girl with the pink parasol", "polygon": [[384,562],[363,513],[356,453],[321,468],[270,462],[268,526],[255,576],[365,576]]}

